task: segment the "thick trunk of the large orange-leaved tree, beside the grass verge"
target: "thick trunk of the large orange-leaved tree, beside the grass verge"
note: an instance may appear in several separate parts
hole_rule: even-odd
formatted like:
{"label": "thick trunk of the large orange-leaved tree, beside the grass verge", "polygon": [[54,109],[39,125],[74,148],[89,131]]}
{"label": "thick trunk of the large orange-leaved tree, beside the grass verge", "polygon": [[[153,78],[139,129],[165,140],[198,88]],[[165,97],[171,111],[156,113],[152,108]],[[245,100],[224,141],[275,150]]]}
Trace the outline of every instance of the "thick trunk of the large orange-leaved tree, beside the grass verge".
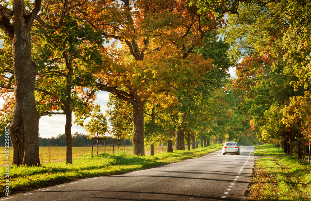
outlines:
{"label": "thick trunk of the large orange-leaved tree, beside the grass verge", "polygon": [[133,104],[133,155],[145,156],[145,102]]}

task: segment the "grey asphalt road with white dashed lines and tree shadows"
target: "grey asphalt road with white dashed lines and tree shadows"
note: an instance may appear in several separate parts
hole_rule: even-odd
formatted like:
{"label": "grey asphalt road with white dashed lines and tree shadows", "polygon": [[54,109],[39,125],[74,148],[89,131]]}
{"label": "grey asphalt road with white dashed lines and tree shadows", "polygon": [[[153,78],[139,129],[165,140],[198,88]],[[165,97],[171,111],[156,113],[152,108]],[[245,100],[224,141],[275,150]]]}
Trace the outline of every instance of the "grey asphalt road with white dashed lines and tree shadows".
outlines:
{"label": "grey asphalt road with white dashed lines and tree shadows", "polygon": [[0,200],[246,200],[254,147],[240,155],[215,151],[205,156],[124,175],[81,179]]}

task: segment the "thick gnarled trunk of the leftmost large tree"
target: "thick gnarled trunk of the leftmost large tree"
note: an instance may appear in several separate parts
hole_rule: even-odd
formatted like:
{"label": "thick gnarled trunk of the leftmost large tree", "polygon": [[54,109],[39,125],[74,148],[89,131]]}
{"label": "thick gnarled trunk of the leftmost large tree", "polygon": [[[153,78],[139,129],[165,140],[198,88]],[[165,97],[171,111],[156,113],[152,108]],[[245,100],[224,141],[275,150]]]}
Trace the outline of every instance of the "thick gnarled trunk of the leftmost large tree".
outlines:
{"label": "thick gnarled trunk of the leftmost large tree", "polygon": [[[40,7],[36,5],[32,17],[24,14],[24,1],[13,1],[14,35],[12,41],[15,108],[12,114],[10,137],[14,165],[40,165],[39,116],[35,103],[37,64],[31,58],[30,29]],[[25,17],[27,17],[25,19]],[[12,38],[14,36],[14,38]]]}

